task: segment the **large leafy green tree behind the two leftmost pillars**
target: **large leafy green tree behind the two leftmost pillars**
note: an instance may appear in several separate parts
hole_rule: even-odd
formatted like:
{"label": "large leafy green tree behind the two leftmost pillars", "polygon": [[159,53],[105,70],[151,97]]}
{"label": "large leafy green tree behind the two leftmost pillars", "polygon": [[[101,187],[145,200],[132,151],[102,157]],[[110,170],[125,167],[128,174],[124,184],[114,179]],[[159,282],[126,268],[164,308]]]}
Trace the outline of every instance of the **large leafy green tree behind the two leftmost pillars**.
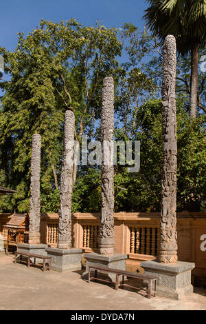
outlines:
{"label": "large leafy green tree behind the two leftmost pillars", "polygon": [[115,28],[84,27],[74,19],[41,21],[27,37],[19,34],[14,52],[1,48],[11,80],[0,83],[0,169],[17,190],[10,199],[19,211],[29,209],[32,134],[42,136],[41,194],[53,192],[56,201],[65,110],[75,113],[80,141],[100,116],[102,79],[115,74],[121,50]]}

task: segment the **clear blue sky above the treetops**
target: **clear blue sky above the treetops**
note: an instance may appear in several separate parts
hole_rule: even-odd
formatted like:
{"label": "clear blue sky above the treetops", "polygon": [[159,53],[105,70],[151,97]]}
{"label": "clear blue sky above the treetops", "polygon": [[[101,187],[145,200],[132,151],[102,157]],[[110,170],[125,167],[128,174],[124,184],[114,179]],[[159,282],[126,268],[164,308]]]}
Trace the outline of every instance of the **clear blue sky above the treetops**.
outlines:
{"label": "clear blue sky above the treetops", "polygon": [[75,18],[84,26],[93,26],[99,19],[107,28],[133,23],[143,29],[142,16],[147,7],[144,0],[2,0],[0,46],[14,50],[16,34],[28,34],[42,18],[55,22]]}

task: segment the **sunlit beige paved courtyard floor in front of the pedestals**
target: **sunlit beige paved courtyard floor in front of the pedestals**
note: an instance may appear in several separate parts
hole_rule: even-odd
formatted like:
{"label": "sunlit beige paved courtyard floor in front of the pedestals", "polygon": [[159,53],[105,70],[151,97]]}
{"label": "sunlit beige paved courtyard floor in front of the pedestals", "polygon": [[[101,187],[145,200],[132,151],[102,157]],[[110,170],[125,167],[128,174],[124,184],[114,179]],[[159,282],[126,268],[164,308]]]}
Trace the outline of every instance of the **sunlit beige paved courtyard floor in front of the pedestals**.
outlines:
{"label": "sunlit beige paved courtyard floor in front of the pedestals", "polygon": [[13,263],[0,252],[0,310],[206,310],[206,290],[181,301],[119,289],[81,279],[79,272],[42,272]]}

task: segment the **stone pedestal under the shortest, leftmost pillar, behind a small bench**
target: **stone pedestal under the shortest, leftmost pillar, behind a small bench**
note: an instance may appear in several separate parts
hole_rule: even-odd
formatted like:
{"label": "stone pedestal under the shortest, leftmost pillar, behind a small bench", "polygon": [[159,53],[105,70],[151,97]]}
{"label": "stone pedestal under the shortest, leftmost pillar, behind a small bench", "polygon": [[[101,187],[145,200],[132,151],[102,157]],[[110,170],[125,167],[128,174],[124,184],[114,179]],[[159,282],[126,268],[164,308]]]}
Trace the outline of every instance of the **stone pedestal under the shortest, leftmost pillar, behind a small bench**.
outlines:
{"label": "stone pedestal under the shortest, leftmost pillar, behind a small bench", "polygon": [[[16,251],[25,253],[34,253],[39,255],[47,255],[45,249],[48,247],[47,244],[29,244],[29,243],[17,243]],[[19,259],[19,256],[18,256]],[[34,258],[31,258],[32,262]],[[43,259],[36,259],[36,263],[43,263]]]}

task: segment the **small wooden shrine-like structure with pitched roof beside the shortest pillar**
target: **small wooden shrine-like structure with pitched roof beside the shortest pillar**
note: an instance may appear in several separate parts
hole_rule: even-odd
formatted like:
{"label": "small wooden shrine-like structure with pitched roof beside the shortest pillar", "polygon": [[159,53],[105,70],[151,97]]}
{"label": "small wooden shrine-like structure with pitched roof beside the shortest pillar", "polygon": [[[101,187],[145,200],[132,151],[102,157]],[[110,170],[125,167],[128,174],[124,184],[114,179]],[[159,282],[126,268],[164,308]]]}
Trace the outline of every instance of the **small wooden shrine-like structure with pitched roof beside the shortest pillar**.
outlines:
{"label": "small wooden shrine-like structure with pitched roof beside the shortest pillar", "polygon": [[3,225],[3,229],[7,231],[6,254],[8,254],[9,245],[28,242],[29,223],[28,214],[16,214],[14,212],[6,225]]}

